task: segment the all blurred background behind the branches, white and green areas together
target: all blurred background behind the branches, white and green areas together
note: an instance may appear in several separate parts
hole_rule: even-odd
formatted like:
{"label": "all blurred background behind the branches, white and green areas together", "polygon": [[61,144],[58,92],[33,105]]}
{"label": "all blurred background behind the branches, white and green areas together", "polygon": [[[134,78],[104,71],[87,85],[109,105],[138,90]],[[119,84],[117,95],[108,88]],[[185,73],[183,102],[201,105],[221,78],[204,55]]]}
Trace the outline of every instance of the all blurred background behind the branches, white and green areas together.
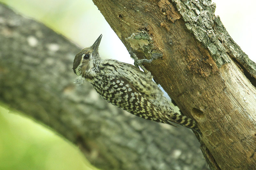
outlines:
{"label": "all blurred background behind the branches, white and green areas together", "polygon": [[[0,0],[15,11],[35,18],[81,48],[102,33],[100,55],[133,63],[126,48],[91,0]],[[214,0],[228,33],[256,61],[254,0]],[[246,11],[246,12],[244,12]],[[110,55],[111,54],[111,55]],[[0,103],[0,169],[95,169],[78,148],[22,114]]]}

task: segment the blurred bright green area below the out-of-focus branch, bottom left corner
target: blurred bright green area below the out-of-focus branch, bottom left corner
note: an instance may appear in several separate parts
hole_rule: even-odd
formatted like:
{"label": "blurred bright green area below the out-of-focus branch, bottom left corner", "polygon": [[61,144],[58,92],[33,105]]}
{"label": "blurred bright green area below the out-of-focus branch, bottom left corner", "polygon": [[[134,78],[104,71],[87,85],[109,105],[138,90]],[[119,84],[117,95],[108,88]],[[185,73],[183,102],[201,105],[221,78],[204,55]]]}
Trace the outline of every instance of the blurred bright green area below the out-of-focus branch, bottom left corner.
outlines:
{"label": "blurred bright green area below the out-of-focus branch, bottom left corner", "polygon": [[78,148],[22,114],[0,106],[0,169],[96,169]]}

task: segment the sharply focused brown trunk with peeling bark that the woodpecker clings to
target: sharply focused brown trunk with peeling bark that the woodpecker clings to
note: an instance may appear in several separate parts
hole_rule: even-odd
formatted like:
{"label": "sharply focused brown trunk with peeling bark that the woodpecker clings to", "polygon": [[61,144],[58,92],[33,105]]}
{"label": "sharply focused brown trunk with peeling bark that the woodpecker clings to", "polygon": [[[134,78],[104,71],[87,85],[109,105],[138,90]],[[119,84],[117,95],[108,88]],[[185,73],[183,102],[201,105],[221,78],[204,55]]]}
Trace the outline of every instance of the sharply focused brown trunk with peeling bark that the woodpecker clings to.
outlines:
{"label": "sharply focused brown trunk with peeling bark that the woodpecker clings to", "polygon": [[256,169],[256,65],[209,0],[93,0],[127,49],[194,118],[211,169]]}

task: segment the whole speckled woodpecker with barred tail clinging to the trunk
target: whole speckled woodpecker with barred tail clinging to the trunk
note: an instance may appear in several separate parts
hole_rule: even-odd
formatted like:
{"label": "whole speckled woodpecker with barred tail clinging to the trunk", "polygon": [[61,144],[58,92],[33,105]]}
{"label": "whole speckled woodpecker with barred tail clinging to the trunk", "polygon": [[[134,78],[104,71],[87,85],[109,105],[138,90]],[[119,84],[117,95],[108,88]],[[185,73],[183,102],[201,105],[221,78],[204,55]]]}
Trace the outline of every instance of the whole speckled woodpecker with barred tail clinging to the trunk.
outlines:
{"label": "whole speckled woodpecker with barred tail clinging to the trunk", "polygon": [[73,70],[90,82],[103,99],[129,113],[155,122],[178,123],[199,132],[192,119],[174,112],[149,71],[113,59],[101,59],[98,49],[102,34],[91,47],[74,59]]}

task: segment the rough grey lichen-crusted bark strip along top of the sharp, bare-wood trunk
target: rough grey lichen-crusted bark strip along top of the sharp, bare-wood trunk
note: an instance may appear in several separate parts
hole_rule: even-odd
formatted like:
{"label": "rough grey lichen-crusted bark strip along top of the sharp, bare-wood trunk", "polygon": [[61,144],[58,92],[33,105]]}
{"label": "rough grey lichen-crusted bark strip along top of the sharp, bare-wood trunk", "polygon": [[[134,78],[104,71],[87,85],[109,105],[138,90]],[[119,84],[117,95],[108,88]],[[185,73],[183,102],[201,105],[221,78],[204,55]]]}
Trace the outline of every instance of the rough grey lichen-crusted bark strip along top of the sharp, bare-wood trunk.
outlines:
{"label": "rough grey lichen-crusted bark strip along top of the sharp, bare-wood trunk", "polygon": [[223,64],[229,63],[230,59],[223,50],[225,48],[218,40],[221,33],[214,28],[217,24],[216,18],[218,18],[214,15],[215,3],[210,0],[203,0],[202,2],[192,0],[188,3],[172,0],[172,2],[176,4],[176,9],[186,22],[185,26],[209,50],[217,66],[221,67]]}

